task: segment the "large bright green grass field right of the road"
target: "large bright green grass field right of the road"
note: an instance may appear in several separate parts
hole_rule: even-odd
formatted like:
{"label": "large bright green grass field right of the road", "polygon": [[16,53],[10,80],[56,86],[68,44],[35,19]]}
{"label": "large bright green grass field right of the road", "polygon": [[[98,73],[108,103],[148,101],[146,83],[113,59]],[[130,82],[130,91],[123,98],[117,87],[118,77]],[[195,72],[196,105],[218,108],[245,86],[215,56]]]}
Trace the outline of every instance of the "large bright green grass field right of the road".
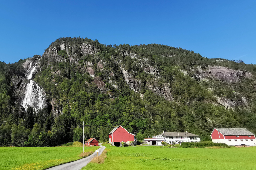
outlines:
{"label": "large bright green grass field right of the road", "polygon": [[89,163],[83,170],[122,169],[256,169],[256,147],[229,149],[160,148],[160,146],[108,146],[102,164]]}

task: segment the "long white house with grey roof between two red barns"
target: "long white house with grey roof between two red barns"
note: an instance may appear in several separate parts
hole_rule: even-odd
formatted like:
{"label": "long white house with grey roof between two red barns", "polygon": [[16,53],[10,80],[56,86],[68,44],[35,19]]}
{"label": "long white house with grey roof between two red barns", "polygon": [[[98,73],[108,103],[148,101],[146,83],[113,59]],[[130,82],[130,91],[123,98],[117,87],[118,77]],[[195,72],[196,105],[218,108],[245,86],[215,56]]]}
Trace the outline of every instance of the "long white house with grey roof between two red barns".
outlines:
{"label": "long white house with grey roof between two red barns", "polygon": [[182,142],[200,142],[200,136],[186,132],[164,132],[144,139],[149,145],[162,145],[162,142],[168,144],[178,144]]}

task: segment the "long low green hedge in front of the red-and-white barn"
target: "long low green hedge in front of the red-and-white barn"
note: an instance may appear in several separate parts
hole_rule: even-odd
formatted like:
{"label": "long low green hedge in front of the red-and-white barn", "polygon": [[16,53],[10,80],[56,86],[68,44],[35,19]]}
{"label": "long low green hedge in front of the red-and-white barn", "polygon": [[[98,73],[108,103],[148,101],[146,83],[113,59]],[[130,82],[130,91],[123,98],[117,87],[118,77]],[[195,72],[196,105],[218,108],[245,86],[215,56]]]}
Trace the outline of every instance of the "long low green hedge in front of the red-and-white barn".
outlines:
{"label": "long low green hedge in front of the red-and-white barn", "polygon": [[205,147],[213,147],[213,146],[217,146],[219,148],[230,148],[230,146],[228,146],[225,143],[213,143],[211,141],[205,141],[205,142],[183,142],[181,143],[181,148],[193,148],[193,147],[197,147],[197,148],[205,148]]}

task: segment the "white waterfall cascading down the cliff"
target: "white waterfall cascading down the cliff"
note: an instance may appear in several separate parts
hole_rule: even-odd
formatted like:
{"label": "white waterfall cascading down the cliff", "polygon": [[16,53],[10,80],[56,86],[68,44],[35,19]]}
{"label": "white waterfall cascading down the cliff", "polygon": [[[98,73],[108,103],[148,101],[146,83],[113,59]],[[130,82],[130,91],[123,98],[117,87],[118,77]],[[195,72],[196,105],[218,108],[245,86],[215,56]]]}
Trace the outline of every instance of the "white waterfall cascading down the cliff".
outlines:
{"label": "white waterfall cascading down the cliff", "polygon": [[[32,64],[32,63],[31,63]],[[31,69],[31,65],[30,65]],[[46,97],[43,95],[43,89],[39,87],[36,82],[32,79],[32,74],[36,69],[36,63],[33,65],[32,69],[30,70],[27,78],[30,82],[27,84],[26,87],[26,94],[23,100],[22,106],[27,110],[29,106],[32,106],[37,111],[38,109],[42,109],[46,107]]]}

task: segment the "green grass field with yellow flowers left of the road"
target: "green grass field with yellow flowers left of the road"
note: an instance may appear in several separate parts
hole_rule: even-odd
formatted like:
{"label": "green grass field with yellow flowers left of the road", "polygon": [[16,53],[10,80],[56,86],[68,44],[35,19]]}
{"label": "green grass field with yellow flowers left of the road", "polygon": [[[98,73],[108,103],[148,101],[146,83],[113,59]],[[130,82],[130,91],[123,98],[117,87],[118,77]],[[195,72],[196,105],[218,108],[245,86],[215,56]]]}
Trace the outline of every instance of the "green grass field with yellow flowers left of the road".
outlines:
{"label": "green grass field with yellow flowers left of the road", "polygon": [[[84,151],[93,153],[98,148]],[[82,152],[83,147],[0,147],[0,170],[43,170],[81,159]]]}

